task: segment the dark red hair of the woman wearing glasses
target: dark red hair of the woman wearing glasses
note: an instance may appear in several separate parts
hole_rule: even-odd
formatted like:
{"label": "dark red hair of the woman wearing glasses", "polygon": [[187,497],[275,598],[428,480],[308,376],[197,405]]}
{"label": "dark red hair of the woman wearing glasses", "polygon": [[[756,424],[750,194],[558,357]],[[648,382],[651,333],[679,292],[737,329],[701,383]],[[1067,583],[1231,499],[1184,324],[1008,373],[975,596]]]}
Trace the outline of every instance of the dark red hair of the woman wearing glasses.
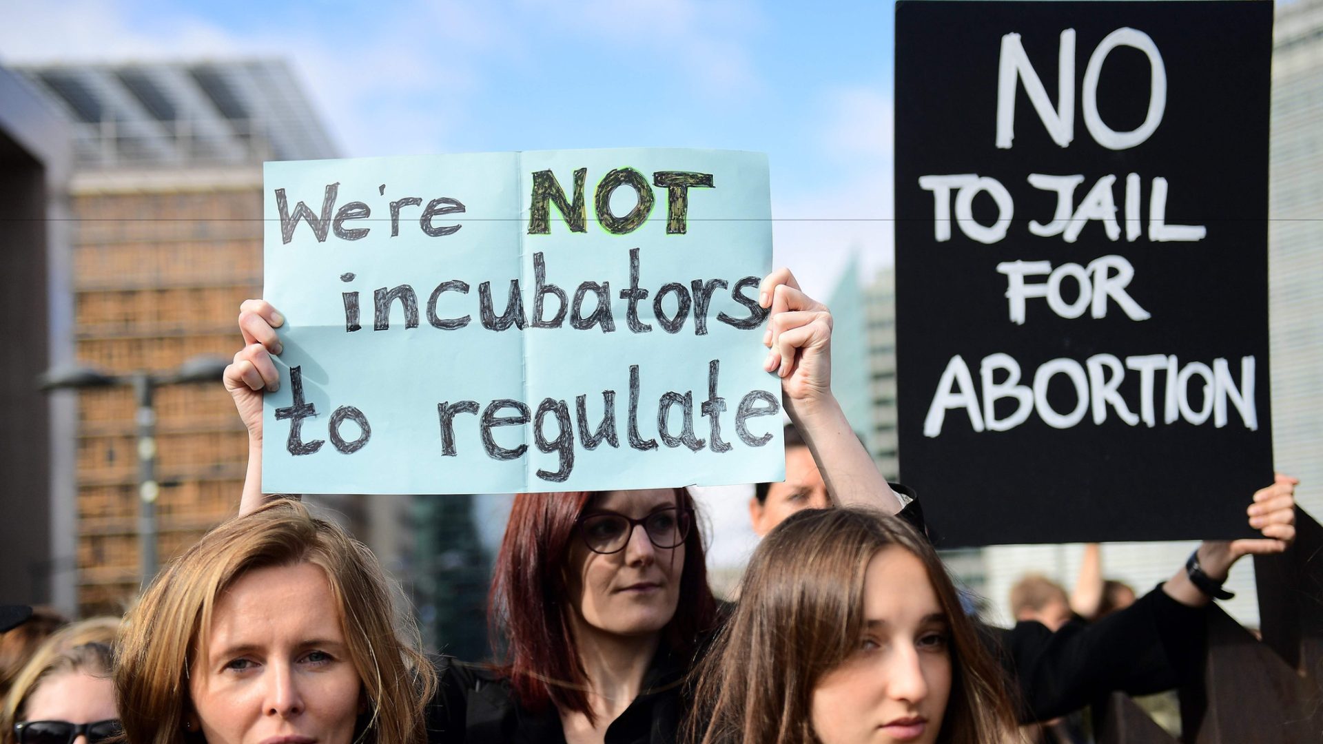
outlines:
{"label": "dark red hair of the woman wearing glasses", "polygon": [[[501,540],[487,617],[492,638],[504,638],[503,671],[524,707],[541,711],[548,703],[594,719],[587,702],[587,674],[579,663],[569,613],[574,612],[565,585],[565,561],[576,522],[601,491],[520,494]],[[687,488],[675,488],[676,503],[693,508]],[[688,658],[700,634],[717,621],[717,601],[708,586],[708,559],[703,530],[689,528],[684,540],[680,600],[662,639],[672,653]]]}

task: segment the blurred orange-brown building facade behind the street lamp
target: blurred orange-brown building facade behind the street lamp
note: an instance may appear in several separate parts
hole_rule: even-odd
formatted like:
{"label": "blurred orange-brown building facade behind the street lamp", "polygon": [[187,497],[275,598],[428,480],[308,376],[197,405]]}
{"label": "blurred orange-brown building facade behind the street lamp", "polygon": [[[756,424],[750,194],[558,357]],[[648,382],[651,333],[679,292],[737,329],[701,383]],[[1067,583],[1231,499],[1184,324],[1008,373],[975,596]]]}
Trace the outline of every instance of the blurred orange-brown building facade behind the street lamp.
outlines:
{"label": "blurred orange-brown building facade behind the street lamp", "polygon": [[[78,361],[167,372],[239,346],[239,303],[262,286],[259,165],[73,179]],[[247,434],[220,381],[156,391],[164,564],[238,510]],[[138,590],[138,450],[128,387],[78,395],[78,605],[119,612]]]}

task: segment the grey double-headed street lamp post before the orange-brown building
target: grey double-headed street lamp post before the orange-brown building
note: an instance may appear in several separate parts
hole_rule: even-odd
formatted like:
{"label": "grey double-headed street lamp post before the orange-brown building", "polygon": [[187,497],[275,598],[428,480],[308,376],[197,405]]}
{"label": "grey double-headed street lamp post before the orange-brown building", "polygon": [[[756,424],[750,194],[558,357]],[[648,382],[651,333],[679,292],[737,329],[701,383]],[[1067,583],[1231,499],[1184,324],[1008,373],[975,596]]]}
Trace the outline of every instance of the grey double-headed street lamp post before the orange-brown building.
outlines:
{"label": "grey double-headed street lamp post before the orange-brown building", "polygon": [[143,584],[156,576],[156,499],[160,482],[156,479],[156,409],[153,398],[157,385],[179,383],[212,383],[221,379],[226,361],[216,356],[193,356],[164,375],[132,372],[110,375],[91,367],[57,367],[41,375],[42,391],[106,388],[130,385],[134,388],[134,425],[138,437],[138,569]]}

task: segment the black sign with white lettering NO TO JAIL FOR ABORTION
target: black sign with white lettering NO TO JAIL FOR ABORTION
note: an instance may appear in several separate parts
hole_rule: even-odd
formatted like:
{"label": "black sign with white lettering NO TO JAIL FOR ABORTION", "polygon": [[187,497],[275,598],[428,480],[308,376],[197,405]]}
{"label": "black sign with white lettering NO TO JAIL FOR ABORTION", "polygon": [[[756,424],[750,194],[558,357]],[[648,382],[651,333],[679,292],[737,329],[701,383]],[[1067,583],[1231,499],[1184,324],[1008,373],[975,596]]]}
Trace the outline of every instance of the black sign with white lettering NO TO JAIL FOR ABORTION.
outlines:
{"label": "black sign with white lettering NO TO JAIL FOR ABORTION", "polygon": [[1273,5],[896,12],[900,458],[943,544],[1248,535]]}

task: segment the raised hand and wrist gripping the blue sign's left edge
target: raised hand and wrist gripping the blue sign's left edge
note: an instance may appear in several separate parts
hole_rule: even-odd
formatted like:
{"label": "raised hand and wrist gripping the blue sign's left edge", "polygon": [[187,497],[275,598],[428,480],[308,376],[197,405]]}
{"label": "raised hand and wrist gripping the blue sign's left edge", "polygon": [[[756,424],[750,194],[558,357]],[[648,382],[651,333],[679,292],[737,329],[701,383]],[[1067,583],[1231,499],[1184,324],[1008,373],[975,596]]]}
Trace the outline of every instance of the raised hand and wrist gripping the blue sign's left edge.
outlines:
{"label": "raised hand and wrist gripping the blue sign's left edge", "polygon": [[275,392],[280,376],[271,361],[273,353],[283,351],[275,328],[284,318],[266,301],[246,299],[239,306],[239,332],[243,348],[225,368],[225,389],[234,398],[234,408],[249,430],[249,463],[243,475],[243,496],[239,514],[249,514],[266,503],[262,494],[262,393]]}

